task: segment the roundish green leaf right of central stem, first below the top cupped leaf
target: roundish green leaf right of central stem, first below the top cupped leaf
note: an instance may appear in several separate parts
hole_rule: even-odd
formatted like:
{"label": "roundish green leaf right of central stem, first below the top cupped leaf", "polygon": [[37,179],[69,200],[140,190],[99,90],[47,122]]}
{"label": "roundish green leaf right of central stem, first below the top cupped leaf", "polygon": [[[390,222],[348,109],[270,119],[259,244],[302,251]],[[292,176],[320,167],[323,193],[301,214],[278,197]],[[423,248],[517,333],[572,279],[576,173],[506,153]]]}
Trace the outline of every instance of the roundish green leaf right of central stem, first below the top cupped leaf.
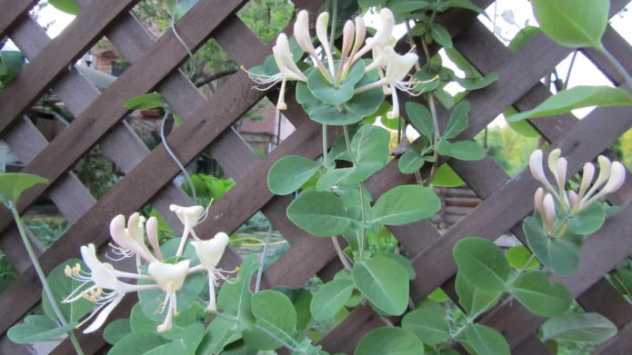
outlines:
{"label": "roundish green leaf right of central stem, first below the top cupped leaf", "polygon": [[375,125],[363,125],[351,140],[350,150],[361,166],[365,163],[378,163],[380,167],[388,162],[388,143],[391,134]]}

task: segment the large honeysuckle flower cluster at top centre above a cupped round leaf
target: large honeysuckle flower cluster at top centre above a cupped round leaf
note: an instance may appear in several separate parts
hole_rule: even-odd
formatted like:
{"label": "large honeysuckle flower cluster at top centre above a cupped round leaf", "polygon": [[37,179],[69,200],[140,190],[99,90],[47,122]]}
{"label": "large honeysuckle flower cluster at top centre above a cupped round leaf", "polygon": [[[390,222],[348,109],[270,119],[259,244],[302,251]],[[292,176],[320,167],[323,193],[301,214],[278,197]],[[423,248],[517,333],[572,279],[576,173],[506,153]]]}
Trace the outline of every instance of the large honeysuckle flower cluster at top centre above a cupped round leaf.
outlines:
{"label": "large honeysuckle flower cluster at top centre above a cupped round leaf", "polygon": [[[343,27],[342,48],[339,51],[340,55],[337,60],[334,59],[334,51],[327,37],[328,23],[328,13],[325,12],[318,15],[316,19],[316,37],[322,50],[317,50],[312,44],[312,37],[309,33],[309,15],[306,10],[300,11],[296,15],[294,24],[296,43],[308,54],[313,66],[318,69],[322,78],[331,87],[337,87],[343,83],[351,67],[371,52],[373,60],[366,65],[365,73],[376,70],[379,74],[379,79],[371,84],[363,84],[356,87],[354,94],[382,87],[384,94],[392,95],[393,99],[393,110],[387,113],[388,117],[398,117],[399,103],[396,90],[417,95],[420,93],[416,93],[415,89],[422,82],[405,81],[406,76],[417,63],[418,58],[413,53],[397,54],[395,52],[396,39],[392,36],[395,26],[393,13],[386,7],[382,9],[379,28],[376,34],[367,38],[366,41],[366,25],[362,17],[356,17],[355,21],[348,20]],[[286,110],[287,105],[284,97],[286,82],[290,80],[307,83],[309,79],[296,65],[298,58],[295,58],[290,51],[289,41],[285,34],[280,34],[276,37],[276,45],[272,50],[279,73],[267,75],[248,72],[248,74],[257,84],[266,85],[266,87],[262,88],[263,90],[281,82],[281,91],[276,107],[279,110]]]}

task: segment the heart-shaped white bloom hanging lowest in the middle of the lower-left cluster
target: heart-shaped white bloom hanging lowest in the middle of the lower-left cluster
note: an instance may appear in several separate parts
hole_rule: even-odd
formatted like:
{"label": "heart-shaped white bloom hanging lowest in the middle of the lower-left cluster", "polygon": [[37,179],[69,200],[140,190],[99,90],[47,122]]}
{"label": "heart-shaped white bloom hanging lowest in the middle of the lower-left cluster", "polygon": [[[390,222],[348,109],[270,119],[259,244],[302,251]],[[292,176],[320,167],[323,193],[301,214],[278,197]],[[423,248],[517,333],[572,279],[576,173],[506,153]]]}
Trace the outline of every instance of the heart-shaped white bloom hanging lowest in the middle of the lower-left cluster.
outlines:
{"label": "heart-shaped white bloom hanging lowest in the middle of the lower-left cluster", "polygon": [[166,292],[162,307],[158,310],[159,313],[162,313],[166,308],[166,317],[165,321],[156,328],[158,332],[165,332],[173,327],[172,319],[177,314],[176,291],[182,289],[185,284],[186,275],[189,273],[189,262],[184,260],[176,264],[169,264],[155,261],[151,262],[147,268],[147,273],[158,283],[160,289]]}

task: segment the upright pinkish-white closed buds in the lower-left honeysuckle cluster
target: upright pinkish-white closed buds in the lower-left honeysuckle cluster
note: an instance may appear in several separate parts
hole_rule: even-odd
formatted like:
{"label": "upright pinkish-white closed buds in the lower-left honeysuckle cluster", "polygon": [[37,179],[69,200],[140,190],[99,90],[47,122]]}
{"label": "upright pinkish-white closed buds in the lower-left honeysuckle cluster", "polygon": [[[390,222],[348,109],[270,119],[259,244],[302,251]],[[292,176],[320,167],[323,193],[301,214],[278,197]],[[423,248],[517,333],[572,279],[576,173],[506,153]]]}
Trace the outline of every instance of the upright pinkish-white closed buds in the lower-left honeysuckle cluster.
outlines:
{"label": "upright pinkish-white closed buds in the lower-left honeysuckle cluster", "polygon": [[[140,213],[135,212],[127,220],[125,226],[125,216],[117,215],[110,222],[110,235],[117,245],[111,245],[115,254],[121,258],[127,258],[136,255],[145,261],[156,261],[154,255],[147,249],[145,245],[144,218]],[[139,260],[136,260],[139,263]]]}

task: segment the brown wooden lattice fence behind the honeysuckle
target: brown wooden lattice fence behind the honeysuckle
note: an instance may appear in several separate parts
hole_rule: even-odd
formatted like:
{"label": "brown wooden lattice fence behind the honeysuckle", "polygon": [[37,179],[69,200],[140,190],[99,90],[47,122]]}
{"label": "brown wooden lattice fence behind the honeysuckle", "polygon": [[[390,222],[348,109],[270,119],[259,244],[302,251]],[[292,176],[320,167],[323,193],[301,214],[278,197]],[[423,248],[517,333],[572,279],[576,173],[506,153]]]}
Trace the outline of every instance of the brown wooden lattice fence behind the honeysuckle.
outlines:
{"label": "brown wooden lattice fence behind the honeysuckle", "polygon": [[[176,155],[191,162],[206,149],[236,181],[236,186],[210,209],[209,218],[199,225],[198,234],[211,236],[216,232],[234,232],[257,211],[262,211],[291,244],[291,248],[267,271],[268,285],[299,287],[318,274],[327,279],[342,266],[328,239],[310,237],[286,218],[288,196],[275,196],[266,188],[266,173],[272,163],[286,154],[297,153],[316,159],[321,152],[320,125],[309,121],[296,102],[288,103],[286,112],[296,131],[276,149],[260,159],[239,137],[231,124],[235,123],[264,95],[276,93],[252,89],[253,84],[243,72],[230,80],[210,99],[206,99],[177,70],[187,58],[186,48],[172,32],[154,40],[145,27],[130,15],[135,0],[77,1],[83,8],[65,31],[50,40],[45,31],[27,14],[33,0],[0,0],[0,38],[8,36],[29,59],[24,71],[0,92],[0,133],[11,149],[25,162],[25,173],[35,173],[50,179],[51,185],[37,186],[23,196],[19,205],[25,211],[42,193],[47,194],[57,208],[72,223],[72,227],[55,244],[41,253],[46,271],[77,255],[79,246],[87,242],[103,244],[109,238],[107,224],[118,213],[130,214],[150,202],[167,222],[177,221],[168,212],[170,203],[190,204],[172,179],[178,173],[175,163],[162,145],[149,152],[135,133],[123,123],[127,111],[123,103],[130,97],[157,91],[166,97],[174,112],[184,123],[168,137]],[[246,0],[201,0],[189,11],[176,28],[191,48],[197,48],[214,38],[238,64],[246,67],[260,64],[270,54],[270,45],[261,44],[236,16]],[[297,8],[316,12],[321,1],[294,1]],[[491,0],[474,3],[487,7]],[[627,0],[612,0],[614,15]],[[497,83],[467,95],[472,104],[470,125],[459,138],[471,139],[488,123],[513,105],[519,111],[530,109],[550,96],[540,79],[552,71],[571,50],[554,44],[544,35],[536,35],[517,53],[510,52],[483,25],[474,13],[453,10],[438,18],[449,29],[456,49],[483,74],[496,72]],[[102,36],[115,45],[132,65],[114,84],[100,93],[71,64]],[[604,37],[607,50],[617,57],[628,72],[632,72],[632,47],[612,28]],[[435,48],[435,51],[438,48]],[[623,83],[607,61],[594,50],[583,53],[597,65],[616,86],[628,91],[632,83]],[[25,118],[26,110],[52,88],[75,115],[75,120],[52,142],[37,131]],[[290,97],[288,95],[287,97]],[[446,123],[448,114],[439,113]],[[629,108],[598,108],[581,121],[572,114],[539,119],[531,123],[552,145],[562,148],[569,159],[569,170],[577,172],[580,164],[603,153],[632,126]],[[340,133],[331,129],[329,137]],[[74,164],[95,144],[125,173],[125,177],[102,199],[95,198],[73,173]],[[456,264],[452,247],[466,236],[496,239],[512,232],[524,241],[521,221],[532,211],[532,196],[537,182],[528,172],[509,180],[507,174],[489,156],[478,162],[450,160],[452,168],[482,199],[465,218],[443,234],[430,222],[422,221],[391,228],[406,248],[416,269],[411,281],[411,297],[420,301],[437,287],[454,295]],[[423,173],[423,172],[422,172]],[[378,196],[398,184],[412,182],[399,173],[396,162],[367,182],[366,187]],[[579,304],[587,311],[596,311],[617,324],[618,335],[603,344],[597,354],[628,354],[632,350],[632,306],[603,276],[617,262],[632,254],[632,239],[627,222],[632,219],[632,184],[628,182],[609,202],[621,205],[617,214],[609,217],[604,228],[587,239],[582,249],[579,270],[570,277],[558,278]],[[0,294],[0,331],[20,320],[40,301],[40,284],[21,247],[10,214],[0,211],[0,249],[20,271],[19,278]],[[238,264],[235,252],[223,261],[226,268]],[[124,317],[131,301],[115,311]],[[544,321],[511,300],[489,311],[482,322],[491,325],[507,338],[514,354],[548,354],[535,330]],[[383,325],[369,307],[357,307],[330,331],[320,343],[332,352],[353,352],[357,340],[368,330]],[[105,346],[100,334],[81,335],[85,350],[95,353]],[[9,349],[5,346],[3,349]],[[2,350],[0,350],[2,351]],[[19,350],[11,350],[18,353]],[[67,341],[55,354],[72,352]]]}

